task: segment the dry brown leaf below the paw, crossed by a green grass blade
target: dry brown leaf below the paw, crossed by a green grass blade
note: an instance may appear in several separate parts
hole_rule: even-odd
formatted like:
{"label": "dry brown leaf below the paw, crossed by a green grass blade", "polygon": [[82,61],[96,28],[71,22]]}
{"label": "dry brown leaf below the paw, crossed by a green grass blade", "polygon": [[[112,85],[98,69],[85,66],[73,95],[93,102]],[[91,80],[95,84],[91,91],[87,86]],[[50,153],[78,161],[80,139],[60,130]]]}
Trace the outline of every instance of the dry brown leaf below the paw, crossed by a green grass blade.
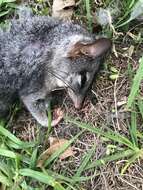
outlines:
{"label": "dry brown leaf below the paw, crossed by a green grass blade", "polygon": [[[50,141],[50,147],[45,150],[41,155],[40,158],[37,162],[37,167],[42,167],[44,162],[52,155],[54,154],[57,150],[62,148],[65,143],[68,143],[68,140],[66,139],[58,139],[54,137],[49,138]],[[72,147],[67,148],[61,155],[60,155],[60,160],[64,160],[65,158],[68,158],[70,156],[73,156],[75,153],[73,151]]]}

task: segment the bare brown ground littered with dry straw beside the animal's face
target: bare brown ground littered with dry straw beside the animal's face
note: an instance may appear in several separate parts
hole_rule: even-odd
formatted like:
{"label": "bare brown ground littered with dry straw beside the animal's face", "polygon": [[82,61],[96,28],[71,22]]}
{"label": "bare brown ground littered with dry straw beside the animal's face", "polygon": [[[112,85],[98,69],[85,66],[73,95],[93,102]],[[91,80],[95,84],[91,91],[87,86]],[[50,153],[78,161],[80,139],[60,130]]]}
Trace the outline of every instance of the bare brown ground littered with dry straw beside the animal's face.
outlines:
{"label": "bare brown ground littered with dry straw beside the animal's face", "polygon": [[[36,9],[37,10],[37,9]],[[139,27],[130,27],[130,32],[137,34]],[[131,30],[132,29],[132,30]],[[142,31],[142,30],[141,30]],[[131,50],[133,49],[133,53]],[[113,38],[113,50],[107,58],[104,67],[96,76],[92,89],[89,91],[81,110],[76,110],[66,92],[57,92],[60,103],[56,105],[64,112],[64,119],[51,129],[50,136],[59,139],[72,139],[81,128],[67,122],[67,116],[78,121],[90,123],[95,129],[112,130],[130,139],[129,125],[131,123],[131,110],[126,108],[127,99],[132,86],[132,78],[138,69],[139,58],[142,56],[143,43],[135,42],[128,32]],[[129,67],[130,65],[130,67]],[[130,72],[130,68],[132,73]],[[115,78],[113,78],[115,76]],[[117,77],[118,76],[118,77]],[[140,96],[143,95],[143,83],[140,85]],[[137,109],[137,112],[138,109]],[[142,131],[142,117],[138,115],[138,130]],[[20,110],[9,122],[10,131],[23,141],[33,141],[39,138],[39,153],[47,147],[47,129],[39,127],[30,113],[20,106]],[[37,137],[38,136],[38,137]],[[44,137],[44,138],[43,138]],[[45,139],[47,138],[47,139]],[[139,141],[142,147],[142,141]],[[48,169],[64,176],[73,177],[82,163],[83,157],[93,149],[90,163],[99,160],[116,150],[124,149],[124,145],[117,144],[102,135],[85,130],[73,142],[74,156],[60,161],[57,159]],[[109,152],[108,152],[109,151]],[[142,190],[143,189],[143,161],[136,159],[121,175],[127,158],[123,157],[102,163],[99,167],[84,169],[82,176],[93,176],[89,180],[79,183],[80,189],[86,190]],[[86,168],[86,167],[85,167]],[[31,186],[36,186],[31,182]],[[50,188],[47,188],[47,190]]]}

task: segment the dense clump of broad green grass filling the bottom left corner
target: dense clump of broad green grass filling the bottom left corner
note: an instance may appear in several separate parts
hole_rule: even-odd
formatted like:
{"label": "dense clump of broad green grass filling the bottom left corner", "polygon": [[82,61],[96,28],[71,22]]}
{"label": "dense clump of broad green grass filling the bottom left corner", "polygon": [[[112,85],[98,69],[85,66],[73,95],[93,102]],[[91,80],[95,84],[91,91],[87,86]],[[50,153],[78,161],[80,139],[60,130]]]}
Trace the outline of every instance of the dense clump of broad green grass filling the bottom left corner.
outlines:
{"label": "dense clump of broad green grass filling the bottom left corner", "polygon": [[[62,177],[62,181],[58,180],[59,176],[53,177],[48,175],[47,166],[58,159],[61,153],[73,143],[83,131],[78,133],[65,146],[59,149],[49,159],[47,159],[42,169],[36,166],[39,159],[38,142],[23,142],[7,129],[0,125],[0,182],[3,188],[7,189],[22,189],[22,184],[27,188],[32,188],[28,185],[30,179],[37,181],[37,186],[53,187],[54,190],[64,190],[62,184],[68,186],[69,180]],[[28,177],[29,179],[26,180]],[[43,183],[44,185],[42,185]],[[39,185],[40,184],[40,185]],[[70,185],[71,187],[71,185]]]}

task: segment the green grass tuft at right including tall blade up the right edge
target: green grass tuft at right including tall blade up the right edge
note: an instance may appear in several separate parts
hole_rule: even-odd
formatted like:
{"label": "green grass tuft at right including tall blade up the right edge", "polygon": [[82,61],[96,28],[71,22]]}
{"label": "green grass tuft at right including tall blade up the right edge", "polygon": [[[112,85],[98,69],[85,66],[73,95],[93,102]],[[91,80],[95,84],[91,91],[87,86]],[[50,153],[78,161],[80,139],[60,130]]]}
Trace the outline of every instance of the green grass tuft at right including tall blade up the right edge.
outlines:
{"label": "green grass tuft at right including tall blade up the right edge", "polygon": [[[90,123],[78,122],[75,119],[67,118],[67,121],[74,124],[75,126],[90,131],[101,137],[105,137],[111,143],[111,145],[116,145],[114,147],[114,153],[111,155],[105,155],[103,158],[92,161],[89,163],[85,169],[91,169],[105,165],[107,162],[118,161],[126,159],[126,163],[121,170],[121,174],[125,173],[127,168],[132,165],[138,159],[141,159],[143,156],[143,147],[142,147],[142,132],[138,131],[138,117],[143,116],[143,99],[136,98],[139,95],[139,88],[141,80],[143,79],[143,57],[139,59],[139,68],[134,76],[133,84],[131,87],[131,92],[128,98],[127,107],[130,107],[131,110],[131,120],[128,124],[129,137],[120,135],[118,132],[107,129],[105,126],[105,131],[103,129],[95,128]],[[139,111],[137,112],[137,107]],[[140,134],[140,135],[139,135]],[[108,145],[107,145],[108,146]]]}

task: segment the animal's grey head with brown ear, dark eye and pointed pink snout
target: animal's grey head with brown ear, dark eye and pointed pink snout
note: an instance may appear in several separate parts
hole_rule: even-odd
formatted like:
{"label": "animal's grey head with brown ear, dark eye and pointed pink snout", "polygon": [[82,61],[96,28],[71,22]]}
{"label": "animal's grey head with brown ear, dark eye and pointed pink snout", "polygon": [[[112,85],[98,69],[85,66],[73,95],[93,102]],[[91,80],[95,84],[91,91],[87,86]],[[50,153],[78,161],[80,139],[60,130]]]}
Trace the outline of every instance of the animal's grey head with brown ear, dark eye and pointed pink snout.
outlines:
{"label": "animal's grey head with brown ear, dark eye and pointed pink snout", "polygon": [[111,41],[101,38],[95,42],[78,41],[56,57],[57,86],[67,88],[74,106],[80,108],[95,73],[111,49]]}

